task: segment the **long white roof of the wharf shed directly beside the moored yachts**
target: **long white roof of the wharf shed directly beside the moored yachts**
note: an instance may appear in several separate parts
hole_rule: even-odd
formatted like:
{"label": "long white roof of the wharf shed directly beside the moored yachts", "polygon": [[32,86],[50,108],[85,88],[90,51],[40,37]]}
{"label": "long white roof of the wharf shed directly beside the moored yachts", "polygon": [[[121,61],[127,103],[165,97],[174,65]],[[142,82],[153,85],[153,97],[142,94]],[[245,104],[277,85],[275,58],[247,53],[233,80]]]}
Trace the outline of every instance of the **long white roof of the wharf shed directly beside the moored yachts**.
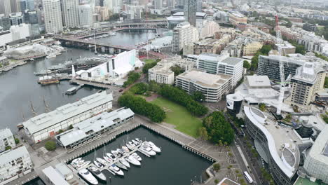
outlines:
{"label": "long white roof of the wharf shed directly beside the moored yachts", "polygon": [[135,114],[131,111],[131,109],[125,108],[117,109],[109,113],[104,112],[93,118],[88,118],[81,123],[77,123],[74,125],[72,130],[63,132],[56,137],[64,146],[69,146],[74,142],[78,142],[79,140],[88,137],[90,133],[99,132],[100,130],[109,128],[111,125],[114,125],[116,121],[125,120],[133,115]]}

